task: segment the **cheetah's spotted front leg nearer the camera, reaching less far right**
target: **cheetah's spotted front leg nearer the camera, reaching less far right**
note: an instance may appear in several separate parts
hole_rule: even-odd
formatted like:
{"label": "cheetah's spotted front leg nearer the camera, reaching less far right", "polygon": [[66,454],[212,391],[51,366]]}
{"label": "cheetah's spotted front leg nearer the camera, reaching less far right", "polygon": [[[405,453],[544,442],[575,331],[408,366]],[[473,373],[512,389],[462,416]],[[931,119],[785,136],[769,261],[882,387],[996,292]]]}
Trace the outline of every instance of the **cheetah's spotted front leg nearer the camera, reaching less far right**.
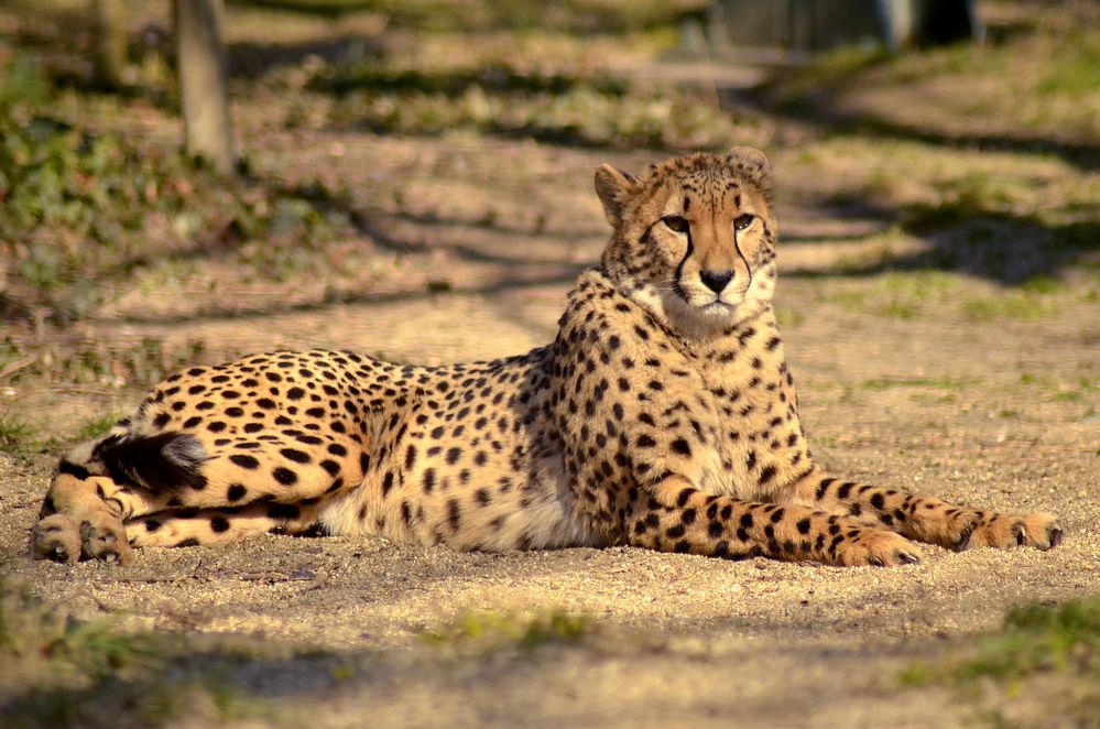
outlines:
{"label": "cheetah's spotted front leg nearer the camera, reaching less far right", "polygon": [[696,489],[668,476],[635,498],[628,542],[661,552],[714,557],[766,556],[837,566],[895,566],[919,562],[900,534],[799,505],[749,503]]}

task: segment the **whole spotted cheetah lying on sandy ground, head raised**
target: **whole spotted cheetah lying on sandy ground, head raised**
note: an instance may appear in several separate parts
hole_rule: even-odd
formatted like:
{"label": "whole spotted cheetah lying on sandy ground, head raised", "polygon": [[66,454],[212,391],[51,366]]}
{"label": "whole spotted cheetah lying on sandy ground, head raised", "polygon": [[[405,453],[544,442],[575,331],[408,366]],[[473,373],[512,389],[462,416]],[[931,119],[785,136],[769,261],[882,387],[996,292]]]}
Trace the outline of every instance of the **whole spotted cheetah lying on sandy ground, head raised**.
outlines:
{"label": "whole spotted cheetah lying on sandy ground, head raised", "polygon": [[508,551],[634,545],[836,566],[1047,550],[1005,515],[823,470],[772,296],[778,235],[758,150],[596,171],[612,235],[553,344],[449,367],[276,351],[194,367],[61,460],[35,557],[264,532]]}

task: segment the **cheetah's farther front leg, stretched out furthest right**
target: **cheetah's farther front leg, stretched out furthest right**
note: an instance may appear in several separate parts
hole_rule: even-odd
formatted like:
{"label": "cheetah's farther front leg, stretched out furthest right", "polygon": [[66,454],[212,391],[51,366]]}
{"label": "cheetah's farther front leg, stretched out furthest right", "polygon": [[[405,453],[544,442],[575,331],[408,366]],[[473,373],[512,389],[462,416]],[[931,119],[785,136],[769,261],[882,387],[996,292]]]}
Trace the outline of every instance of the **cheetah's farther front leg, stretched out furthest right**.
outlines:
{"label": "cheetah's farther front leg, stretched out furthest right", "polygon": [[792,502],[847,513],[908,538],[959,552],[980,546],[1049,550],[1063,540],[1061,525],[1052,514],[981,511],[935,497],[845,481],[818,471],[796,485]]}

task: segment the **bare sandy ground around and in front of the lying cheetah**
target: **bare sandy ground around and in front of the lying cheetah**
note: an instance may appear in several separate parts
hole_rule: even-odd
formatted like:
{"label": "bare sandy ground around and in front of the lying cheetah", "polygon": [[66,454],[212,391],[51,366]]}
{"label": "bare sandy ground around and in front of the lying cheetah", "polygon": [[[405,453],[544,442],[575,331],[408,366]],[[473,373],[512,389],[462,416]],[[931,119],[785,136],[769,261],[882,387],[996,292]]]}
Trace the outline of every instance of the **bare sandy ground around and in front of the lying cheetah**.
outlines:
{"label": "bare sandy ground around and in front of the lying cheetah", "polygon": [[[324,248],[345,273],[279,284],[241,279],[217,251],[193,252],[104,284],[97,314],[57,335],[65,347],[202,342],[205,360],[326,347],[432,364],[526,351],[554,337],[566,292],[607,237],[597,165],[634,171],[663,156],[472,133],[287,129],[281,101],[264,93],[237,109],[254,173],[350,191],[355,232]],[[873,111],[903,131],[930,124],[921,94],[901,85]],[[170,142],[178,133],[141,104],[121,123]],[[52,610],[181,633],[196,651],[211,635],[270,646],[205,678],[226,687],[231,711],[209,692],[184,693],[175,726],[1097,726],[1087,717],[1100,707],[1066,718],[1042,682],[996,694],[990,714],[972,696],[903,687],[900,676],[995,629],[1012,607],[1100,594],[1100,283],[1094,260],[1036,260],[1049,230],[1026,217],[1056,207],[1036,199],[1096,209],[1100,174],[1069,144],[1045,153],[946,132],[884,139],[881,127],[864,138],[765,115],[759,138],[737,140],[767,148],[776,171],[777,312],[813,450],[852,479],[1058,514],[1057,548],[924,546],[919,565],[840,569],[263,536],[145,550],[126,568],[69,567],[26,556],[55,455],[0,451],[0,574]],[[937,264],[965,221],[904,224],[929,204],[961,200],[967,213],[987,198],[1019,214],[982,213],[979,232],[1008,259],[995,272],[966,257]],[[1017,269],[1045,276],[1042,285],[1005,286],[1025,278]],[[0,404],[62,440],[140,398],[121,376],[7,387],[0,374]],[[470,613],[551,611],[588,616],[590,634],[531,650],[424,640]],[[0,684],[33,681],[0,664]]]}

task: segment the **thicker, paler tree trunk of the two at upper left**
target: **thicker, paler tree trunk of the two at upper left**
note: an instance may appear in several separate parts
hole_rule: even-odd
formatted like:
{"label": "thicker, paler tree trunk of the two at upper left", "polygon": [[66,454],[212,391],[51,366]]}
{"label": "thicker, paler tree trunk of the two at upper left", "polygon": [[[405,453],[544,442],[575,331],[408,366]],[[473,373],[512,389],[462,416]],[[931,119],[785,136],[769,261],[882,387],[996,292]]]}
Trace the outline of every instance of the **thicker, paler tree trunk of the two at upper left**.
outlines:
{"label": "thicker, paler tree trunk of the two at upper left", "polygon": [[174,0],[176,65],[187,153],[233,173],[233,129],[221,44],[221,0]]}

